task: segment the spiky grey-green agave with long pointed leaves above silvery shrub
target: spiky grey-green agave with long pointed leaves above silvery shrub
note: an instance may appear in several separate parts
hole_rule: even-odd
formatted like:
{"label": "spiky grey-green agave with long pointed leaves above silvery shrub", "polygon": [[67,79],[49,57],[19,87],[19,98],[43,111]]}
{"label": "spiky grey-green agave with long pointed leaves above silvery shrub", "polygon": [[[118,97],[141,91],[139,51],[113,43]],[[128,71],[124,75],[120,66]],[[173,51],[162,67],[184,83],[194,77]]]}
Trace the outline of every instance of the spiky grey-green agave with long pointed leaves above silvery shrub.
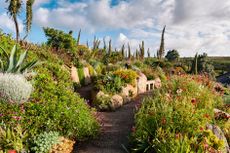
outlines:
{"label": "spiky grey-green agave with long pointed leaves above silvery shrub", "polygon": [[26,73],[38,63],[37,60],[33,60],[25,64],[28,51],[20,54],[18,58],[16,45],[12,48],[10,56],[5,49],[2,47],[0,47],[0,49],[3,50],[4,59],[7,59],[6,62],[3,62],[0,58],[0,72],[2,73]]}

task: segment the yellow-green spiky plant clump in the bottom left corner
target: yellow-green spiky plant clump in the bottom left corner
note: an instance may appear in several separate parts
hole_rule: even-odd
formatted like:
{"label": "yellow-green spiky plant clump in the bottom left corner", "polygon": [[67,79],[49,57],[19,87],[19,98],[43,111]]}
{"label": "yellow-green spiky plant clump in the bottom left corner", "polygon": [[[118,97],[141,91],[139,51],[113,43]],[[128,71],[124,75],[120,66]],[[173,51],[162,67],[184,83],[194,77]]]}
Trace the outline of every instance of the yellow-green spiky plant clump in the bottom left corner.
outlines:
{"label": "yellow-green spiky plant clump in the bottom left corner", "polygon": [[23,151],[27,134],[22,130],[20,125],[9,127],[0,124],[0,151],[8,151],[14,149],[18,152]]}

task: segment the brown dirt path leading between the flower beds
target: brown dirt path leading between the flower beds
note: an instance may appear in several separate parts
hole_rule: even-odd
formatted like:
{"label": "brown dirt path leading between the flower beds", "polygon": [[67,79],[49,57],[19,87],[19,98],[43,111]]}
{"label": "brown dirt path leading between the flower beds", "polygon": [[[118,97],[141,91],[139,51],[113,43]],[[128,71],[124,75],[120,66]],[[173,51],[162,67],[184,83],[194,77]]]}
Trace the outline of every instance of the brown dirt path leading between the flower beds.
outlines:
{"label": "brown dirt path leading between the flower beds", "polygon": [[126,153],[128,137],[134,124],[135,107],[144,95],[115,112],[99,112],[102,122],[101,135],[92,141],[80,144],[75,153]]}

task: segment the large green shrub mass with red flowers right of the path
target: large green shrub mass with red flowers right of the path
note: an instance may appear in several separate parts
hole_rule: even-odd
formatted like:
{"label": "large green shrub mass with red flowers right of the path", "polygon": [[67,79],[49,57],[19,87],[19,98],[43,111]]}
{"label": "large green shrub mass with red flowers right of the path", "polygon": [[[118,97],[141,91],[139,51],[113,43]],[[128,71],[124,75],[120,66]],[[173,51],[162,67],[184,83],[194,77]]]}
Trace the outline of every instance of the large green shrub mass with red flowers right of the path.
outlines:
{"label": "large green shrub mass with red flowers right of the path", "polygon": [[206,131],[221,97],[190,77],[173,77],[146,98],[135,117],[133,152],[222,151],[223,141]]}

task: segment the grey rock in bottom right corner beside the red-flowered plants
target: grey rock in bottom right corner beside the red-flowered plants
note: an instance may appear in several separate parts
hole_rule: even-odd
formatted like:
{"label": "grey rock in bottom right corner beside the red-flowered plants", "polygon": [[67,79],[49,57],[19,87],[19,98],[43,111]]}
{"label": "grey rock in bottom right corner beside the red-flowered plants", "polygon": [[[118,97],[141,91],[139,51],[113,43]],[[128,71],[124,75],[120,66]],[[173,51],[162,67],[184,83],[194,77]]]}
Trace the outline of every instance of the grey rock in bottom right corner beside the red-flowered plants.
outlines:
{"label": "grey rock in bottom right corner beside the red-flowered plants", "polygon": [[218,126],[211,125],[211,124],[207,125],[207,129],[211,130],[218,139],[224,141],[225,149],[223,150],[223,153],[230,153],[228,141],[227,141],[226,137],[224,136],[224,133],[222,132],[222,130]]}

